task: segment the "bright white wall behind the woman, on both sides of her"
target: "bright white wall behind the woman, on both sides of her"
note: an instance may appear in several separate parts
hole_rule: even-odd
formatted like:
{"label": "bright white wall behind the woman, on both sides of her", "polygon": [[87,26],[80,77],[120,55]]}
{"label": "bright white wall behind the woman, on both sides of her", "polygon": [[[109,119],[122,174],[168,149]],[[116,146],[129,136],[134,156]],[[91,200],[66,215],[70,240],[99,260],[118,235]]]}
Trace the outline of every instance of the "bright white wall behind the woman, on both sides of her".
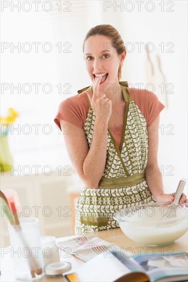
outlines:
{"label": "bright white wall behind the woman, on both sides of her", "polygon": [[[55,1],[54,1],[55,2]],[[54,3],[53,2],[53,3]],[[58,1],[57,1],[58,2]],[[55,3],[57,3],[55,2]],[[127,1],[123,2],[125,5]],[[95,25],[111,24],[120,32],[125,43],[153,42],[156,54],[161,58],[166,83],[174,84],[174,94],[167,94],[168,106],[161,112],[160,126],[164,125],[164,134],[159,136],[159,167],[164,167],[163,182],[165,191],[174,191],[181,177],[187,178],[187,29],[186,29],[186,1],[173,1],[174,12],[166,12],[170,5],[164,2],[164,11],[155,2],[153,12],[144,8],[146,1],[138,11],[128,12],[123,8],[121,12],[113,7],[104,11],[103,1],[72,1],[71,13],[57,12],[57,7],[47,13],[39,12],[11,12],[6,9],[2,13],[3,42],[51,42],[53,51],[50,53],[11,53],[5,50],[2,54],[2,83],[50,83],[53,91],[45,94],[11,94],[6,92],[1,96],[2,113],[8,107],[15,107],[20,111],[18,123],[50,124],[52,134],[45,135],[14,135],[9,136],[15,164],[24,165],[51,165],[53,169],[59,165],[70,165],[65,150],[63,136],[59,135],[53,118],[58,110],[59,103],[77,90],[90,85],[82,53],[82,43],[86,32]],[[114,3],[114,2],[110,2]],[[120,4],[121,1],[117,1]],[[154,1],[152,2],[154,3]],[[162,2],[163,3],[163,2]],[[169,2],[168,2],[169,3]],[[82,8],[78,9],[78,5]],[[171,2],[170,2],[171,4]],[[147,6],[151,9],[151,6]],[[127,6],[130,10],[130,6]],[[10,24],[11,23],[11,24]],[[5,28],[6,27],[6,28]],[[71,53],[56,52],[55,44],[59,42],[71,43]],[[159,44],[174,43],[174,53],[162,53]],[[158,48],[157,48],[158,46]],[[65,47],[64,47],[65,48]],[[139,53],[135,45],[134,52],[127,52],[124,62],[122,80],[131,84],[148,83],[146,65],[146,52]],[[166,50],[165,46],[165,50]],[[41,49],[40,49],[41,50]],[[153,55],[153,54],[152,54]],[[69,83],[70,94],[59,94],[56,85]],[[157,88],[157,87],[156,87]],[[156,90],[156,94],[157,94]],[[173,125],[174,135],[167,135],[167,125]],[[30,144],[30,145],[29,145]],[[29,147],[30,146],[30,147]],[[32,150],[28,150],[31,148]],[[170,168],[173,176],[168,176]]]}

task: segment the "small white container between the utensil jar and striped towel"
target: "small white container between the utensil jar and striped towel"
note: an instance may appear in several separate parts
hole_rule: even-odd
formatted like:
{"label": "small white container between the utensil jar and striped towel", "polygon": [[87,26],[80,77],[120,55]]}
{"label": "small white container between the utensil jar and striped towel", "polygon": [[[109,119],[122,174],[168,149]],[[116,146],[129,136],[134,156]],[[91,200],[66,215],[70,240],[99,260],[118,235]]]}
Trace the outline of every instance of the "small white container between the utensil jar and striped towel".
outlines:
{"label": "small white container between the utensil jar and striped towel", "polygon": [[59,249],[55,246],[55,240],[54,236],[41,236],[41,247],[45,266],[60,261]]}

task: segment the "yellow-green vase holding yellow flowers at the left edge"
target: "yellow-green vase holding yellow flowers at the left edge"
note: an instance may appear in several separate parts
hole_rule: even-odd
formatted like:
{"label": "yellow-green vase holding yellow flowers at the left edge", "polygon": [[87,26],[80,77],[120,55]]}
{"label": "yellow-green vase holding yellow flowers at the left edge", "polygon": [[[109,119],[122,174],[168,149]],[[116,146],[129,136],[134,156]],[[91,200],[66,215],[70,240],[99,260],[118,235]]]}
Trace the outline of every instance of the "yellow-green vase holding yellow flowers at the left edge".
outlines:
{"label": "yellow-green vase holding yellow flowers at the left edge", "polygon": [[9,171],[13,165],[13,157],[9,149],[8,134],[0,135],[0,171]]}

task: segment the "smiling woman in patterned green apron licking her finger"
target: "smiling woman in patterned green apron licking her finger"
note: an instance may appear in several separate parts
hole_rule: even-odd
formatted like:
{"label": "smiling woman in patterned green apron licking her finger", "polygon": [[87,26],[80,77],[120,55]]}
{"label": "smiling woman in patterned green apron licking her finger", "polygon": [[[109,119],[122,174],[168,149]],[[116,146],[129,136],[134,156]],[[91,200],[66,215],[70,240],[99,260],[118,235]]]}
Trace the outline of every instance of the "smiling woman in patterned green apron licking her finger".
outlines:
{"label": "smiling woman in patterned green apron licking her finger", "polygon": [[[164,105],[145,89],[120,82],[126,50],[111,25],[91,28],[83,43],[90,87],[65,99],[55,123],[85,183],[76,206],[76,234],[119,227],[116,210],[172,202],[157,163],[159,113]],[[149,126],[150,125],[150,126]],[[186,199],[182,195],[180,203]]]}

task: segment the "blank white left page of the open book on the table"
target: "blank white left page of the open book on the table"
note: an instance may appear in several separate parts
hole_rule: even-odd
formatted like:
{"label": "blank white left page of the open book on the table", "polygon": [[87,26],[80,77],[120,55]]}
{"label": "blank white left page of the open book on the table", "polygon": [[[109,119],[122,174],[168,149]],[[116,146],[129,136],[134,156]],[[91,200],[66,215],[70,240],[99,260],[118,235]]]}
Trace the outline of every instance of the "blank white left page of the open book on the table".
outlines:
{"label": "blank white left page of the open book on the table", "polygon": [[[129,260],[129,258],[127,258]],[[131,266],[131,269],[133,269],[139,274],[141,274],[138,270],[135,269],[135,267]],[[118,280],[120,277],[131,273],[131,270],[126,267],[116,256],[112,253],[101,253],[94,258],[90,259],[87,263],[85,263],[83,266],[77,269],[76,275],[82,282],[95,282],[95,281],[120,281]],[[67,278],[70,281],[72,274],[67,274]],[[141,276],[144,274],[142,273]],[[138,281],[147,281],[148,277],[146,275],[144,276],[144,279]],[[128,279],[131,281],[131,279]],[[75,280],[76,281],[76,280]],[[77,280],[78,281],[78,280]],[[135,281],[135,280],[133,280]]]}

